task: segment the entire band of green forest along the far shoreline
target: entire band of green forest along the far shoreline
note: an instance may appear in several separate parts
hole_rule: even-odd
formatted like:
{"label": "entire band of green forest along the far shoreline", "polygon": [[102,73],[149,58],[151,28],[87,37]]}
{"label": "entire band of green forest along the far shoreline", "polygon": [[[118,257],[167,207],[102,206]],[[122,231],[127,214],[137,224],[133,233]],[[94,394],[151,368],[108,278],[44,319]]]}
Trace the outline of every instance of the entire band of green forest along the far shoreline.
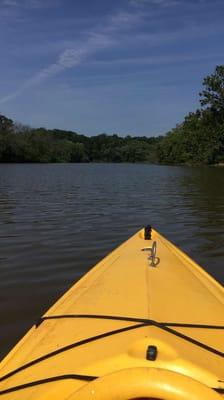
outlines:
{"label": "entire band of green forest along the far shoreline", "polygon": [[0,114],[0,162],[224,163],[224,65],[204,78],[200,108],[163,136],[85,136],[30,128]]}

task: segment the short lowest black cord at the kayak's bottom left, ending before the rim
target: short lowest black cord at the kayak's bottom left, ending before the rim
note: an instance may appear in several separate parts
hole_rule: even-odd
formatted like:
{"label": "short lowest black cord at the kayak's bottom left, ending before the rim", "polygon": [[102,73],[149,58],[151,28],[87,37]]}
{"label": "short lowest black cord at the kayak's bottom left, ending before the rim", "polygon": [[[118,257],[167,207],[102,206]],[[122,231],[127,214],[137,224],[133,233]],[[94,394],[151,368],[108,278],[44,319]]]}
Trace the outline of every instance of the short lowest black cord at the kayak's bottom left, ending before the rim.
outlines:
{"label": "short lowest black cord at the kayak's bottom left, ending before the rim", "polygon": [[3,394],[16,392],[17,390],[28,389],[28,388],[33,387],[33,386],[38,386],[38,385],[42,385],[42,384],[45,384],[45,383],[57,382],[57,381],[66,380],[66,379],[74,379],[74,380],[81,380],[81,381],[91,382],[91,381],[93,381],[93,380],[95,380],[97,378],[98,378],[97,376],[79,375],[79,374],[68,374],[68,375],[53,376],[53,377],[50,377],[50,378],[40,379],[40,380],[37,380],[37,381],[24,383],[23,385],[13,386],[11,388],[1,390],[0,391],[0,396],[3,395]]}

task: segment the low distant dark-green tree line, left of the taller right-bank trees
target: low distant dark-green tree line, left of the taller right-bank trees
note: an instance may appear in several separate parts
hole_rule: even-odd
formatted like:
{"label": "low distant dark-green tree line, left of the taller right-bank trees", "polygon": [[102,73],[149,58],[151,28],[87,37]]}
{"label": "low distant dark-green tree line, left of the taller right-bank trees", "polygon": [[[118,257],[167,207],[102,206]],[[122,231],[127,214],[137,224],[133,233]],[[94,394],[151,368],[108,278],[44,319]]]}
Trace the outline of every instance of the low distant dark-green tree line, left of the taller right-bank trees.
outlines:
{"label": "low distant dark-green tree line, left of the taller right-bank trees", "polygon": [[31,129],[0,115],[0,162],[156,162],[159,138]]}

